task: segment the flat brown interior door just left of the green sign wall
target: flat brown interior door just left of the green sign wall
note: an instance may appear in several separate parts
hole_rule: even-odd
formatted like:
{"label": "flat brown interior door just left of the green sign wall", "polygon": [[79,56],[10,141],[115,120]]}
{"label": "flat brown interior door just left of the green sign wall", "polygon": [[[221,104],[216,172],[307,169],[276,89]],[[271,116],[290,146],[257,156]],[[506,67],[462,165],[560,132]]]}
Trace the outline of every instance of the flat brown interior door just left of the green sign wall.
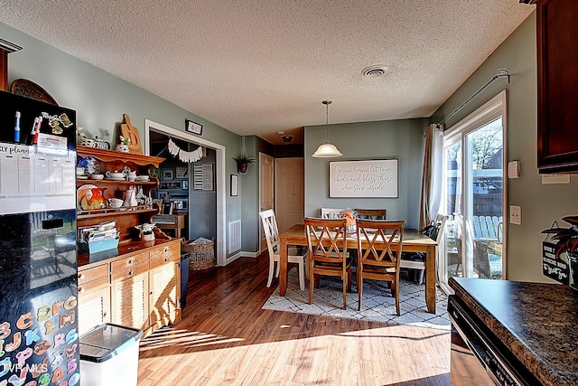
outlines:
{"label": "flat brown interior door just left of the green sign wall", "polygon": [[275,159],[275,216],[280,232],[303,224],[304,170],[303,157]]}

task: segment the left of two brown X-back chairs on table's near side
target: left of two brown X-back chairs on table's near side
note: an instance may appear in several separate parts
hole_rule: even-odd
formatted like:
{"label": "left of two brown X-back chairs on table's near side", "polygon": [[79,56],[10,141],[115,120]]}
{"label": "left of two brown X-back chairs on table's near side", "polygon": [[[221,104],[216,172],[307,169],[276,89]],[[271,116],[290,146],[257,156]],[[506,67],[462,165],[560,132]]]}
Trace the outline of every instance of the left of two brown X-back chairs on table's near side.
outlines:
{"label": "left of two brown X-back chairs on table's near side", "polygon": [[311,218],[304,219],[304,223],[309,251],[309,304],[313,300],[313,287],[319,287],[320,277],[335,276],[343,282],[343,309],[347,309],[347,292],[351,292],[347,223],[345,219]]}

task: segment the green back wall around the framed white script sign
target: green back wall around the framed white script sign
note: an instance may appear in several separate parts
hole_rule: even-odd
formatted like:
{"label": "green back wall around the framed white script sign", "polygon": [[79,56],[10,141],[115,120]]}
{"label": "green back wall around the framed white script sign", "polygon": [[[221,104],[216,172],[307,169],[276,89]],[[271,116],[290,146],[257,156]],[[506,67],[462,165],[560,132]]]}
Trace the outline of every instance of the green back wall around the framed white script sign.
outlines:
{"label": "green back wall around the framed white script sign", "polygon": [[[424,165],[426,119],[401,119],[330,125],[330,142],[340,158],[313,158],[325,141],[325,126],[305,127],[305,216],[319,217],[320,208],[387,209],[387,219],[406,220],[418,228],[420,190]],[[330,198],[329,161],[367,159],[399,160],[399,198]]]}

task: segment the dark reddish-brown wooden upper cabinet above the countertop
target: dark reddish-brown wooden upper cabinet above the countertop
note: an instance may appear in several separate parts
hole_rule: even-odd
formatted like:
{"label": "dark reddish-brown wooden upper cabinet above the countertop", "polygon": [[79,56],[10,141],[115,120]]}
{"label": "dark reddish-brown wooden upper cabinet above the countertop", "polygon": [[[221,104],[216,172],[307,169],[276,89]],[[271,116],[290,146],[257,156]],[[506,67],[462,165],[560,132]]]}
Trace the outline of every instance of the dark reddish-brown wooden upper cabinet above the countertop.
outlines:
{"label": "dark reddish-brown wooden upper cabinet above the countertop", "polygon": [[540,174],[578,172],[578,1],[537,2]]}

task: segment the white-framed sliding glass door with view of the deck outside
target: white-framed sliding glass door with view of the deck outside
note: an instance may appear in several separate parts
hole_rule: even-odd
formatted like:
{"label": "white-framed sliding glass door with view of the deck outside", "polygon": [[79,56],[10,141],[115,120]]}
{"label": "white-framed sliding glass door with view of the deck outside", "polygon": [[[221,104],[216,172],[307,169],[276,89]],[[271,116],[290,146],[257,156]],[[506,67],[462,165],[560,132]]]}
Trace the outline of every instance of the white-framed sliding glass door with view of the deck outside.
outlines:
{"label": "white-framed sliding glass door with view of the deck outside", "polygon": [[505,278],[506,91],[443,137],[443,287],[452,276]]}

